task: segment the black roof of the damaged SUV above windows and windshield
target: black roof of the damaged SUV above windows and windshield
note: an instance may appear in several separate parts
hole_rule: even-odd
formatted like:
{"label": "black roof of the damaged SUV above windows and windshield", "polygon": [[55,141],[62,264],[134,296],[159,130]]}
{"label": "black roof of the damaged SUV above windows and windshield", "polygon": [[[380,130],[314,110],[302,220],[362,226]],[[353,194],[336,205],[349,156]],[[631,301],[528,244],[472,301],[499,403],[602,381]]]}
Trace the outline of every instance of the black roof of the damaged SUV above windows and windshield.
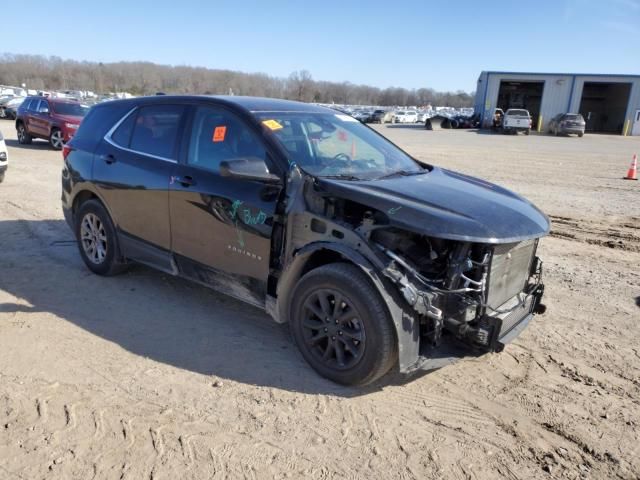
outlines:
{"label": "black roof of the damaged SUV above windows and windshield", "polygon": [[137,105],[166,104],[176,100],[180,102],[183,102],[185,100],[194,100],[198,102],[209,100],[212,104],[227,105],[250,113],[306,112],[335,114],[335,110],[326,107],[320,107],[318,105],[313,105],[310,103],[282,100],[278,98],[244,97],[236,95],[153,95],[147,97],[136,97],[126,100],[114,100],[99,105],[129,103],[133,107]]}

